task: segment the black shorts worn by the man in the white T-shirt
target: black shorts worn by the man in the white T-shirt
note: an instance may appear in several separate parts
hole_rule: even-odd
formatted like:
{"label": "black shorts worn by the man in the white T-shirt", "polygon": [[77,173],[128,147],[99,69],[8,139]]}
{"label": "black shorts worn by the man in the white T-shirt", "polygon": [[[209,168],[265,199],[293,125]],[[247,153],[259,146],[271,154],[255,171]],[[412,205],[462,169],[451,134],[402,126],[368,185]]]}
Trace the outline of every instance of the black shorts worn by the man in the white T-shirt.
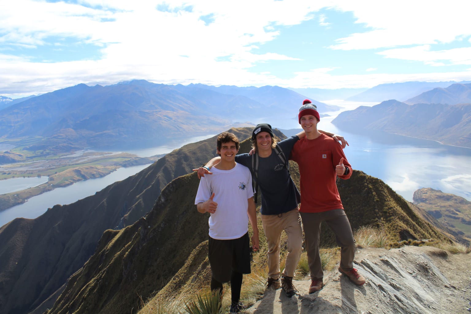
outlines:
{"label": "black shorts worn by the man in the white T-shirt", "polygon": [[233,240],[216,240],[209,237],[208,258],[212,277],[218,282],[229,282],[231,273],[250,274],[249,233]]}

